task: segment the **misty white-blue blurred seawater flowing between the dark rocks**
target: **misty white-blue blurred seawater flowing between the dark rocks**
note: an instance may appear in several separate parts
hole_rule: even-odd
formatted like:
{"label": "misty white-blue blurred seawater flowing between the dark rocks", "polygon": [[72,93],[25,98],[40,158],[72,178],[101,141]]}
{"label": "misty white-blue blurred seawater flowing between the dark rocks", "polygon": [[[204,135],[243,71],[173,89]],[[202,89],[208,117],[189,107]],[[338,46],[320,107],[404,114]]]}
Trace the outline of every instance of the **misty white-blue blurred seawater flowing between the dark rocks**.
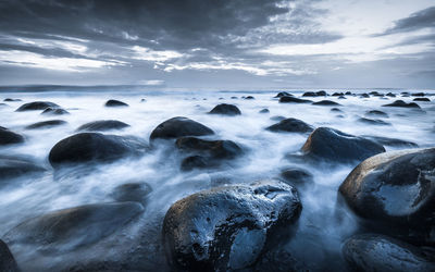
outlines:
{"label": "misty white-blue blurred seawater flowing between the dark rocks", "polygon": [[[302,90],[288,90],[295,96]],[[331,95],[335,90],[327,90]],[[351,90],[355,94],[371,90]],[[435,106],[433,102],[418,102],[426,112],[415,112],[403,108],[381,108],[382,104],[397,99],[406,102],[414,97],[400,97],[403,90],[393,91],[397,98],[360,98],[346,96],[309,98],[313,101],[333,100],[343,104],[343,113],[332,112],[333,107],[311,104],[279,103],[274,96],[278,91],[149,91],[127,89],[88,89],[76,91],[52,90],[41,92],[1,92],[0,98],[20,98],[22,101],[5,102],[0,107],[0,125],[25,136],[24,144],[0,148],[1,154],[24,156],[32,158],[48,171],[41,175],[27,175],[15,180],[0,177],[0,237],[21,222],[37,215],[88,203],[114,201],[112,191],[122,184],[144,182],[152,191],[147,198],[145,210],[138,219],[128,223],[122,237],[116,237],[119,249],[113,245],[113,237],[105,237],[97,246],[88,246],[74,251],[40,252],[32,246],[11,246],[17,263],[24,271],[37,269],[58,270],[74,263],[80,258],[98,260],[121,258],[128,252],[129,244],[140,245],[144,256],[142,268],[169,270],[162,245],[160,244],[161,224],[164,213],[176,200],[192,193],[227,184],[246,184],[253,181],[279,177],[283,169],[298,166],[308,170],[314,184],[298,188],[302,202],[302,212],[298,230],[287,244],[295,248],[295,256],[307,262],[337,262],[345,268],[340,258],[343,240],[357,230],[356,220],[350,213],[337,212],[337,189],[356,164],[308,164],[288,157],[298,153],[308,134],[273,133],[265,131],[277,121],[272,116],[296,118],[314,126],[337,128],[352,135],[384,136],[409,140],[420,147],[435,144],[434,124]],[[412,90],[409,90],[412,91]],[[253,96],[254,99],[243,99]],[[431,100],[435,97],[431,97]],[[105,108],[109,99],[119,99],[129,104],[122,108]],[[146,99],[146,101],[141,101]],[[42,115],[40,111],[15,112],[25,102],[51,101],[71,114]],[[241,115],[224,116],[207,114],[219,103],[237,106]],[[270,113],[259,113],[262,109]],[[357,122],[369,110],[382,110],[389,118],[384,121],[390,126],[368,125]],[[341,115],[341,116],[337,116]],[[228,161],[224,166],[211,170],[183,172],[181,161],[185,157],[177,151],[173,141],[159,143],[141,157],[125,158],[113,163],[100,164],[92,171],[82,168],[54,172],[48,162],[50,149],[61,139],[76,133],[78,126],[98,120],[119,120],[129,124],[121,131],[104,132],[114,135],[133,135],[146,141],[152,129],[163,121],[174,116],[186,116],[207,125],[215,135],[207,139],[228,139],[237,143],[244,154]],[[64,120],[67,124],[45,128],[25,129],[25,126],[40,121]],[[385,146],[386,150],[403,147]],[[337,214],[343,212],[343,214]],[[104,244],[105,243],[105,244]],[[104,246],[107,245],[107,246]],[[122,252],[122,254],[120,254]]]}

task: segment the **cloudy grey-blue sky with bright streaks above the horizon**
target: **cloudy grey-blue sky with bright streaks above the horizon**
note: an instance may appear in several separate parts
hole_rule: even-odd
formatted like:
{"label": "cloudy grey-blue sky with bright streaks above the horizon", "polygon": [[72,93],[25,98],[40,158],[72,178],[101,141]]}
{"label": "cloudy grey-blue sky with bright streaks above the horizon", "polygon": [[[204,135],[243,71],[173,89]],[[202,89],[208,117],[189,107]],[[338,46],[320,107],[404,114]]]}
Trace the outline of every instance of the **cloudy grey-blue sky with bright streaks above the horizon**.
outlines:
{"label": "cloudy grey-blue sky with bright streaks above the horizon", "polygon": [[0,85],[435,88],[434,0],[0,0]]}

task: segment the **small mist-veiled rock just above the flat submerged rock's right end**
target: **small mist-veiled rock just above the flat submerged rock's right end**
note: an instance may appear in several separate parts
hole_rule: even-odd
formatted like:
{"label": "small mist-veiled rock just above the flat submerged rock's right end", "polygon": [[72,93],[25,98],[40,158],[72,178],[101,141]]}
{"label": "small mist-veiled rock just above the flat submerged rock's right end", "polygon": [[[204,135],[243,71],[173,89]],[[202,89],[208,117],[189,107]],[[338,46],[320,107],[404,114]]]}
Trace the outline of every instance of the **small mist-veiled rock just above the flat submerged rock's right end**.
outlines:
{"label": "small mist-veiled rock just above the flat submerged rock's right end", "polygon": [[145,205],[151,190],[151,186],[146,183],[125,183],[116,186],[111,196],[117,202],[133,201]]}

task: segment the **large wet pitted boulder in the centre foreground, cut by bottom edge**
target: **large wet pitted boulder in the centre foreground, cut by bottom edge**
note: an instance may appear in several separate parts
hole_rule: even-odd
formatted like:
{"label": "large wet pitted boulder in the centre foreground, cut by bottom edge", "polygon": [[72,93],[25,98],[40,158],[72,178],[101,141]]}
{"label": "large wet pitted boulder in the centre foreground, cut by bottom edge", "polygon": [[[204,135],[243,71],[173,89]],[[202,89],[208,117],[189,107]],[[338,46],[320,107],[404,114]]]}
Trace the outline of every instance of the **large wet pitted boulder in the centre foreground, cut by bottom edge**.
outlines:
{"label": "large wet pitted boulder in the centre foreground, cut by bottom edge", "polygon": [[277,181],[203,190],[175,202],[163,221],[163,243],[175,270],[249,268],[299,218],[296,189]]}

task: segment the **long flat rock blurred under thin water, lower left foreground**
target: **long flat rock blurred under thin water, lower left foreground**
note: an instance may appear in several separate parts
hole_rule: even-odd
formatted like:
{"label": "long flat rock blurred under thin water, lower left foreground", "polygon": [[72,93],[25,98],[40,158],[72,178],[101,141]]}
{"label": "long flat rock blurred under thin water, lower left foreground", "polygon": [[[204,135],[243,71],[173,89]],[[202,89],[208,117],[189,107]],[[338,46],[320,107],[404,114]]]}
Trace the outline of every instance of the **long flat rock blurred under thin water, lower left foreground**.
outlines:
{"label": "long flat rock blurred under thin water, lower left foreground", "polygon": [[37,250],[71,251],[116,232],[140,212],[138,202],[86,205],[49,212],[9,231],[10,245],[35,245]]}

